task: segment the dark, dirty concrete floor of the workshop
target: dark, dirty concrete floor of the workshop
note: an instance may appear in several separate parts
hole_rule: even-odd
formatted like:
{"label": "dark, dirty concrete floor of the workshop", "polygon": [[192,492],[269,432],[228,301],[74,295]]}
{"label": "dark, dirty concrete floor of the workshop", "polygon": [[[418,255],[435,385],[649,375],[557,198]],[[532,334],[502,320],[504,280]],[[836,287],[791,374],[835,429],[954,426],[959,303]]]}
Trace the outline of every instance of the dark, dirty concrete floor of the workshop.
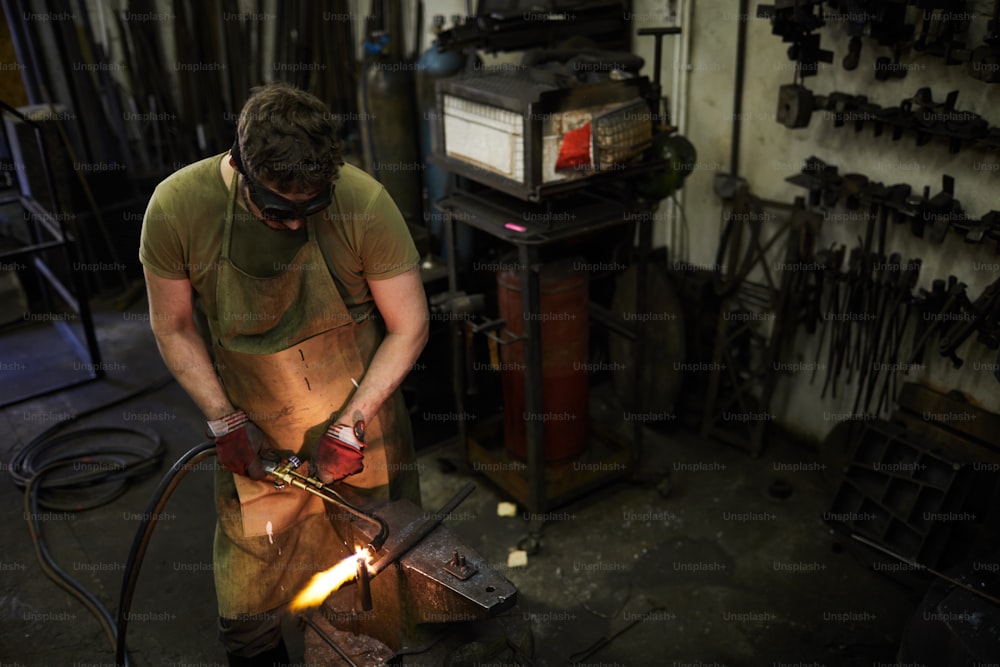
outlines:
{"label": "dark, dirty concrete floor of the workshop", "polygon": [[[0,450],[4,470],[16,450],[55,421],[166,376],[144,308],[144,302],[126,313],[98,306],[106,379],[0,412],[8,433]],[[4,367],[5,391],[27,383],[42,356],[58,354],[47,328],[21,327],[33,355],[5,359],[23,366]],[[203,429],[176,383],[78,425],[123,423],[159,433],[168,451],[160,469],[98,509],[44,513],[44,539],[57,562],[112,610],[138,518],[169,465],[201,440]],[[683,431],[647,434],[639,472],[553,511],[540,550],[519,568],[508,568],[507,558],[527,534],[524,514],[497,516],[506,497],[464,465],[457,445],[420,442],[425,508],[439,507],[469,480],[477,484],[447,526],[517,586],[518,605],[504,622],[530,629],[534,664],[567,664],[630,623],[580,664],[894,661],[919,595],[873,571],[868,554],[823,523],[832,490],[821,472],[810,470],[815,465],[793,465],[815,463],[815,452],[771,440],[753,460]],[[225,664],[214,630],[211,467],[206,462],[184,479],[150,544],[128,632],[136,665]],[[778,479],[790,490],[783,500],[769,493]],[[0,484],[2,664],[114,664],[98,622],[40,569],[22,495],[9,480]],[[292,647],[301,660],[301,637],[292,637]],[[510,653],[438,660],[415,655],[404,664],[518,664]]]}

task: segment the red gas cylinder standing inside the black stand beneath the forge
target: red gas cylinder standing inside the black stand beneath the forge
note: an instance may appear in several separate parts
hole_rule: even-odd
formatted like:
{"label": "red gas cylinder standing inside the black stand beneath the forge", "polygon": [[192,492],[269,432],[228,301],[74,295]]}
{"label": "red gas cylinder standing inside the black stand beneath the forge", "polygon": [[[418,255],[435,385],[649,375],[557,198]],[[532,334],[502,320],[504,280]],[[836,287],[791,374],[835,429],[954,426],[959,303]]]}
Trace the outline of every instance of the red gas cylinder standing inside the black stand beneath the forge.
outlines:
{"label": "red gas cylinder standing inside the black stand beneath the forge", "polygon": [[[524,318],[537,318],[541,328],[542,413],[527,410],[524,397],[525,341],[501,346],[504,440],[507,453],[528,455],[526,423],[544,422],[545,464],[557,466],[580,457],[587,448],[588,393],[587,305],[585,271],[579,260],[546,264],[539,274],[539,312],[521,312],[521,277],[517,271],[497,272],[500,317],[515,336],[524,333]],[[537,371],[536,371],[537,373]]]}

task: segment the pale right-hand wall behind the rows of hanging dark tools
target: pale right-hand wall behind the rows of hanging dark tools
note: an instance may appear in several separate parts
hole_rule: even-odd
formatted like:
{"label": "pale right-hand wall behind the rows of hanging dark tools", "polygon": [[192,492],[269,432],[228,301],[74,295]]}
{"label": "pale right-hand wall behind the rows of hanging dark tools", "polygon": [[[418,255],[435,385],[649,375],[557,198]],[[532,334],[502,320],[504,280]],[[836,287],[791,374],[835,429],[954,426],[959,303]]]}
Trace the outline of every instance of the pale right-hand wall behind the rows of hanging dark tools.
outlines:
{"label": "pale right-hand wall behind the rows of hanging dark tools", "polygon": [[[806,158],[816,156],[836,166],[840,174],[857,172],[885,185],[908,183],[919,195],[925,186],[933,196],[942,189],[942,175],[955,178],[955,197],[970,217],[980,218],[1000,208],[996,199],[997,170],[995,153],[976,148],[963,148],[950,153],[947,142],[933,139],[923,146],[916,145],[912,133],[893,141],[890,132],[875,137],[870,123],[855,133],[851,123],[836,128],[829,112],[814,112],[806,128],[788,129],[776,117],[778,89],[794,82],[794,62],[787,56],[788,44],[771,34],[771,22],[755,18],[758,4],[749,3],[747,16],[740,16],[736,3],[698,3],[690,31],[693,35],[691,76],[688,103],[689,126],[686,134],[697,147],[698,164],[684,189],[687,218],[692,230],[690,261],[710,267],[716,261],[721,229],[723,203],[713,192],[716,173],[729,172],[730,139],[733,121],[733,84],[737,60],[736,42],[741,21],[746,21],[747,42],[745,89],[743,93],[742,141],[740,142],[739,175],[744,177],[753,194],[771,200],[791,203],[795,197],[807,196],[804,188],[786,182],[786,178],[802,170]],[[982,43],[986,22],[992,12],[991,2],[970,2],[974,14],[970,28],[970,47]],[[721,7],[725,5],[726,8]],[[910,12],[917,12],[911,8]],[[919,10],[923,11],[923,10]],[[910,52],[901,57],[907,75],[901,79],[878,81],[874,75],[875,59],[891,56],[891,50],[880,47],[869,38],[863,40],[860,64],[854,71],[845,71],[841,60],[847,53],[849,37],[846,23],[828,16],[819,31],[821,48],[832,50],[833,63],[820,63],[816,76],[807,77],[805,85],[818,95],[842,91],[867,95],[883,107],[898,106],[912,97],[919,88],[930,87],[935,101],[943,101],[949,91],[959,91],[956,109],[983,116],[990,124],[1000,124],[1000,86],[984,83],[967,74],[966,66],[945,66],[942,58]],[[866,207],[865,207],[865,210]],[[849,215],[854,213],[854,216]],[[845,244],[857,245],[864,235],[865,223],[857,214],[838,204],[824,213],[824,222],[817,248]],[[923,261],[918,288],[930,289],[934,279],[947,279],[951,274],[968,285],[972,300],[1000,275],[996,244],[966,244],[960,234],[948,234],[945,242],[935,244],[927,238],[917,238],[907,225],[892,225],[886,245],[887,253],[899,252],[904,262],[913,258]],[[771,412],[775,420],[809,438],[822,438],[837,422],[837,416],[850,412],[853,388],[838,392],[836,399],[820,399],[822,381],[810,383],[812,364],[816,361],[817,335],[801,329],[793,344],[786,346],[783,359],[783,380],[777,385]],[[976,343],[973,335],[959,350],[965,360],[961,369],[940,357],[933,348],[925,356],[925,364],[909,368],[900,366],[898,381],[919,381],[939,390],[960,389],[990,410],[1000,409],[1000,392],[993,377],[996,352]],[[908,344],[909,338],[904,345]],[[802,370],[794,364],[801,363]],[[822,363],[820,360],[819,363]],[[820,369],[820,377],[823,369]]]}

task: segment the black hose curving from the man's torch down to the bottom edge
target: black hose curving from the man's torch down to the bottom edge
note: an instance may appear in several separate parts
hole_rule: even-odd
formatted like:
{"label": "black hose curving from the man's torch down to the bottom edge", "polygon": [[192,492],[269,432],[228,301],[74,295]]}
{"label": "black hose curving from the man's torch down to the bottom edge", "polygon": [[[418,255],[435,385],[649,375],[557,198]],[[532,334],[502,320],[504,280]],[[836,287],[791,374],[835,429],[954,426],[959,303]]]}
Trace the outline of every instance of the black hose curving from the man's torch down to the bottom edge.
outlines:
{"label": "black hose curving from the man's torch down to the bottom edge", "polygon": [[125,633],[128,630],[129,610],[132,608],[132,596],[135,594],[136,582],[139,580],[142,559],[146,555],[146,547],[149,546],[149,540],[153,536],[156,521],[159,519],[161,510],[170,500],[174,489],[190,472],[191,466],[211,456],[215,456],[215,442],[206,440],[179,458],[160,481],[160,485],[156,487],[156,491],[153,492],[153,497],[150,498],[146,511],[142,515],[142,521],[139,523],[135,539],[132,541],[128,560],[125,561],[125,575],[122,579],[122,591],[118,600],[118,617],[115,624],[117,630],[115,664],[118,667],[127,667],[128,665]]}

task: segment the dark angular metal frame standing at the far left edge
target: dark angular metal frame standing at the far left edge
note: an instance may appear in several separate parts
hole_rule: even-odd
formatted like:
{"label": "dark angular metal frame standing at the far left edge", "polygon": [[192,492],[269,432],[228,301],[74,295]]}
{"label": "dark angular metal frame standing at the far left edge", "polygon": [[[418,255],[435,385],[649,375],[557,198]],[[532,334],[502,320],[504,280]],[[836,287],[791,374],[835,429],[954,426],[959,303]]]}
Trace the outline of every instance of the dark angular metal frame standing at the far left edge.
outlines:
{"label": "dark angular metal frame standing at the far left edge", "polygon": [[[59,296],[65,303],[66,308],[79,318],[83,329],[82,339],[70,326],[67,319],[70,317],[51,317],[50,323],[56,327],[63,339],[69,343],[73,351],[79,358],[87,359],[83,364],[74,364],[74,373],[71,377],[62,380],[39,382],[44,373],[25,372],[25,377],[31,377],[31,382],[17,383],[22,393],[12,398],[4,398],[0,407],[12,405],[39,396],[44,396],[61,389],[77,386],[91,380],[96,380],[103,375],[101,366],[101,353],[97,344],[97,335],[94,331],[94,322],[90,312],[88,302],[87,285],[84,280],[84,271],[80,262],[80,252],[76,239],[66,230],[65,220],[67,215],[60,211],[58,193],[56,192],[55,177],[52,167],[49,164],[48,152],[45,145],[45,136],[42,127],[37,122],[31,120],[14,107],[0,101],[0,108],[16,117],[19,121],[30,125],[35,133],[38,142],[38,150],[45,172],[46,186],[52,202],[53,211],[46,209],[41,203],[31,196],[24,195],[23,192],[16,198],[25,212],[26,232],[29,243],[14,250],[0,252],[0,264],[11,262],[19,268],[27,269],[29,266],[34,270],[39,278],[38,285],[46,301],[46,305],[53,308],[51,291]],[[3,125],[3,138],[10,151],[11,141],[7,134],[6,125]],[[70,287],[62,283],[56,271],[50,268],[47,259],[52,255],[58,255],[60,262],[64,265],[66,274],[70,279]],[[26,259],[26,263],[21,265],[13,262],[21,258]],[[68,313],[67,313],[68,315]],[[26,318],[27,319],[27,318]],[[28,371],[27,365],[20,362],[8,361],[11,364],[10,371]],[[21,368],[24,366],[24,368]],[[40,385],[40,386],[39,386]]]}

